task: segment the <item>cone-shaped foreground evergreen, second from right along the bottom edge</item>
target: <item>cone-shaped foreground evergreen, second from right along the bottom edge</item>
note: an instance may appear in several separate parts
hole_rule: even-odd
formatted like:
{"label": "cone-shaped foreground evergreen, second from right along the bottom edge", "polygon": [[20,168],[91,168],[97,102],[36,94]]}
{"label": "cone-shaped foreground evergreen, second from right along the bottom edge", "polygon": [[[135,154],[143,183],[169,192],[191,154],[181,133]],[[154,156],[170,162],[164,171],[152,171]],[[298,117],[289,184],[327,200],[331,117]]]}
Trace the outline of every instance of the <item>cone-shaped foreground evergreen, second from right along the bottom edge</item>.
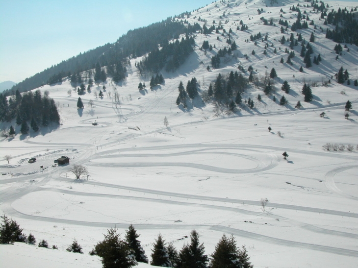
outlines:
{"label": "cone-shaped foreground evergreen, second from right along the bottom edge", "polygon": [[211,255],[210,268],[242,268],[243,263],[240,258],[240,251],[236,246],[233,235],[228,238],[225,234],[215,246],[215,251]]}

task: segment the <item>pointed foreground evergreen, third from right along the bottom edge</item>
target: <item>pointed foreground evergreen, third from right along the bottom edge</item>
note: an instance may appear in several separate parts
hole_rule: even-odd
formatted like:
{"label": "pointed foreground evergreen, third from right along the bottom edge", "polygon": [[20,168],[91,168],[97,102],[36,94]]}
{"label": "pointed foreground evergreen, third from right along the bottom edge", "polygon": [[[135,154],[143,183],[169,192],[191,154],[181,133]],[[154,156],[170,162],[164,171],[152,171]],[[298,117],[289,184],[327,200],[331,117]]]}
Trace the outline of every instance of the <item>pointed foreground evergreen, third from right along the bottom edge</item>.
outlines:
{"label": "pointed foreground evergreen, third from right along the bottom edge", "polygon": [[178,268],[206,268],[209,259],[204,251],[204,244],[199,243],[198,232],[193,230],[190,234],[190,244],[184,244],[179,252]]}

